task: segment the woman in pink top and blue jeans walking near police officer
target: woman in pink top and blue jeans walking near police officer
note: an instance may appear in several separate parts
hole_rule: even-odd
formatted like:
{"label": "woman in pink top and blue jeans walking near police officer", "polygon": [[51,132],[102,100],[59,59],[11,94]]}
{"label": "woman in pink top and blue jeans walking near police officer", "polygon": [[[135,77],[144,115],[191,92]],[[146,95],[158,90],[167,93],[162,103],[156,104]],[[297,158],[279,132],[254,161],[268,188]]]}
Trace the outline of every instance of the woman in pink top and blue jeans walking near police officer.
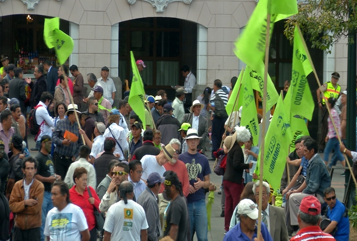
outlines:
{"label": "woman in pink top and blue jeans walking near police officer", "polygon": [[[339,117],[339,114],[337,113],[336,109],[334,108],[336,101],[337,101],[336,98],[330,97],[327,100],[327,105],[330,107],[331,116],[335,122],[337,131],[339,132],[338,134],[341,137],[340,117]],[[327,136],[325,138],[325,141],[327,142],[327,144],[326,144],[325,151],[324,151],[325,164],[326,165],[328,164],[329,155],[330,155],[331,150],[333,149],[335,151],[334,155],[336,155],[337,160],[341,161],[342,166],[345,166],[346,165],[345,158],[340,151],[340,143],[338,141],[337,134],[336,134],[335,128],[333,126],[331,117],[328,117],[327,123],[328,123],[328,132],[327,132]]]}

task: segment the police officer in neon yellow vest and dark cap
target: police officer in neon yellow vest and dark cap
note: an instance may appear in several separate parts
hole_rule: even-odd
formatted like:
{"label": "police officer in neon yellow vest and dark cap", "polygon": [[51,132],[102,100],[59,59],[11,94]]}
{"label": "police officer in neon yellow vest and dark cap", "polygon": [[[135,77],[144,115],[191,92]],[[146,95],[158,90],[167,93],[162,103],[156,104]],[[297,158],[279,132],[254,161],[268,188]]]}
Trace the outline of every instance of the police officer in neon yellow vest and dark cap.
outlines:
{"label": "police officer in neon yellow vest and dark cap", "polygon": [[[321,85],[321,88],[318,88],[316,90],[317,94],[317,104],[319,105],[319,108],[321,109],[321,115],[322,115],[322,128],[321,128],[321,137],[320,137],[320,152],[323,152],[323,149],[325,149],[325,137],[327,135],[327,118],[328,118],[328,111],[325,105],[325,102],[327,101],[328,98],[334,97],[338,99],[340,92],[341,92],[341,86],[337,83],[340,79],[340,74],[338,72],[333,72],[331,81],[327,81],[324,85]],[[322,97],[321,97],[322,93]]]}

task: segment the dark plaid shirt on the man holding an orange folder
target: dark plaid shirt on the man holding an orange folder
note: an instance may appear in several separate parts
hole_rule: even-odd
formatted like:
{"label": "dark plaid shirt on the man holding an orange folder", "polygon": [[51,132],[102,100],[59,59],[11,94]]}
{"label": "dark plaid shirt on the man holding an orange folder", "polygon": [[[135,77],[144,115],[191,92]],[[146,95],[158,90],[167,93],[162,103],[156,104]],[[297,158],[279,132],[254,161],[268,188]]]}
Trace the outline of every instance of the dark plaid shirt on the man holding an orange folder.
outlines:
{"label": "dark plaid shirt on the man holding an orange folder", "polygon": [[[77,142],[71,142],[69,146],[62,145],[62,141],[64,140],[64,131],[66,130],[78,136]],[[78,123],[74,122],[71,124],[68,118],[57,121],[55,130],[52,132],[52,142],[57,145],[55,152],[58,152],[60,155],[66,157],[77,157],[79,153],[79,147],[83,145],[82,138],[78,132]]]}

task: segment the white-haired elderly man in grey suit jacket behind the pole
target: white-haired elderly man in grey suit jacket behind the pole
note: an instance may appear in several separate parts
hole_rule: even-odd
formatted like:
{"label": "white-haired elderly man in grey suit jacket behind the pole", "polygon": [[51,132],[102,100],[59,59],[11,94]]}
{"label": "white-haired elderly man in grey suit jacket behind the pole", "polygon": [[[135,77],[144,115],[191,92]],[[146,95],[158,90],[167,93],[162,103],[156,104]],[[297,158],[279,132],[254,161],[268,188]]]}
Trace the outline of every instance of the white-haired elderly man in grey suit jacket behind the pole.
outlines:
{"label": "white-haired elderly man in grey suit jacket behind the pole", "polygon": [[[259,203],[259,181],[254,183],[253,192],[256,203]],[[262,193],[262,222],[268,229],[274,241],[289,241],[288,229],[285,225],[284,209],[269,204],[270,186],[263,181]]]}

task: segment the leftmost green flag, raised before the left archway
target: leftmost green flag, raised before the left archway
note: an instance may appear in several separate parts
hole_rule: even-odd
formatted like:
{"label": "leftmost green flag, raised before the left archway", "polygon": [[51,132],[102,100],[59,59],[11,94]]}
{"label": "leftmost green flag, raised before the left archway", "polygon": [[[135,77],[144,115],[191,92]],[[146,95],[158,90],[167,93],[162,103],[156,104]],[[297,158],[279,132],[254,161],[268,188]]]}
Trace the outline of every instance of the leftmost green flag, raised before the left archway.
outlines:
{"label": "leftmost green flag, raised before the left archway", "polygon": [[72,54],[73,39],[60,31],[60,18],[46,18],[44,25],[44,40],[49,49],[55,48],[55,52],[60,64],[65,63]]}

